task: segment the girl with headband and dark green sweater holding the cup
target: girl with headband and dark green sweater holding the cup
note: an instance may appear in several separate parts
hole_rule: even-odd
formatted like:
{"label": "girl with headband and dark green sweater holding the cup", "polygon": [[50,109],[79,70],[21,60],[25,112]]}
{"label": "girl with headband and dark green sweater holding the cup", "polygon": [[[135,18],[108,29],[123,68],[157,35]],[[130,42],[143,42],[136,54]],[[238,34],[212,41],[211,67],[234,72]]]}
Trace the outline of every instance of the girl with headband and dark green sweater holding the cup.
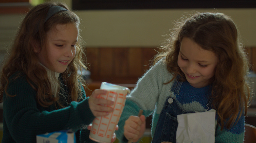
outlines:
{"label": "girl with headband and dark green sweater holding the cup", "polygon": [[59,130],[92,142],[88,125],[113,111],[112,101],[97,99],[105,90],[85,95],[79,24],[74,12],[53,3],[33,7],[22,21],[0,76],[2,142],[36,142],[36,135]]}

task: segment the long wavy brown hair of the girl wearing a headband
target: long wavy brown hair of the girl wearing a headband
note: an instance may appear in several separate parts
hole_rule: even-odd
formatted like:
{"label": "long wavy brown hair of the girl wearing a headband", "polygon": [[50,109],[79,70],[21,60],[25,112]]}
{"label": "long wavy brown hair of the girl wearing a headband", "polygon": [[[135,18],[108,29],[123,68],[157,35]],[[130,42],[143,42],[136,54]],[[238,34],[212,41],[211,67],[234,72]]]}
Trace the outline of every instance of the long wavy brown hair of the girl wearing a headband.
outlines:
{"label": "long wavy brown hair of the girl wearing a headband", "polygon": [[[52,6],[60,6],[66,8],[68,11],[59,11],[51,16],[46,22],[45,17],[49,8]],[[63,103],[60,103],[58,94],[53,96],[53,89],[51,82],[47,75],[45,67],[43,67],[34,52],[35,44],[39,45],[42,49],[47,51],[46,33],[56,28],[57,24],[75,24],[79,27],[80,20],[78,16],[71,11],[66,5],[62,3],[44,3],[33,7],[26,17],[23,19],[10,51],[7,53],[2,72],[0,75],[0,101],[3,102],[3,94],[7,93],[7,87],[9,84],[8,78],[15,72],[24,72],[26,74],[27,81],[37,91],[37,102],[47,107],[56,103],[60,107],[64,107]],[[80,101],[82,99],[82,86],[85,86],[85,81],[77,73],[78,70],[87,69],[85,47],[80,35],[75,45],[76,55],[72,62],[68,65],[66,71],[61,73],[63,84],[69,89],[68,101]],[[47,52],[46,52],[47,53]],[[49,57],[46,55],[47,59]],[[19,74],[15,77],[17,78]],[[82,86],[81,86],[82,85]],[[60,86],[61,87],[61,86]],[[60,88],[58,88],[58,91]],[[57,93],[58,93],[57,91]],[[55,93],[56,94],[56,93]]]}

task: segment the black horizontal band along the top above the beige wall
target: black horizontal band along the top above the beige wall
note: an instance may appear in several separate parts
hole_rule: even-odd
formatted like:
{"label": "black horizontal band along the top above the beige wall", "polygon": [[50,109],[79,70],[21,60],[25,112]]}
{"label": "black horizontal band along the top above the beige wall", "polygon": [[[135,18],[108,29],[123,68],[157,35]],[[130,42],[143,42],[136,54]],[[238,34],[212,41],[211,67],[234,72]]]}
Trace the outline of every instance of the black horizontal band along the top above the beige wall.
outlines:
{"label": "black horizontal band along the top above the beige wall", "polygon": [[73,0],[74,10],[255,7],[256,0]]}

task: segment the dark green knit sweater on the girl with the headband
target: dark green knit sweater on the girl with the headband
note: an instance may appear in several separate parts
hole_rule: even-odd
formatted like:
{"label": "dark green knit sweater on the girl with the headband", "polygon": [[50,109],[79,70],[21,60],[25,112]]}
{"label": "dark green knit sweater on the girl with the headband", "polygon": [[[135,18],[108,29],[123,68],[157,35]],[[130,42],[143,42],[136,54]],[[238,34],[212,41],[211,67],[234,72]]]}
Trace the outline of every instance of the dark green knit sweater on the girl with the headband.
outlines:
{"label": "dark green knit sweater on the girl with the headband", "polygon": [[[42,107],[36,102],[36,91],[27,82],[26,75],[21,73],[21,76],[13,79],[15,75],[9,78],[7,92],[16,96],[3,95],[3,143],[35,143],[36,135],[68,129],[75,132],[77,142],[93,142],[88,138],[89,130],[86,128],[95,117],[84,89],[82,93],[85,99],[79,103],[69,102],[62,109],[56,109],[54,104]],[[59,100],[66,99],[62,97]]]}

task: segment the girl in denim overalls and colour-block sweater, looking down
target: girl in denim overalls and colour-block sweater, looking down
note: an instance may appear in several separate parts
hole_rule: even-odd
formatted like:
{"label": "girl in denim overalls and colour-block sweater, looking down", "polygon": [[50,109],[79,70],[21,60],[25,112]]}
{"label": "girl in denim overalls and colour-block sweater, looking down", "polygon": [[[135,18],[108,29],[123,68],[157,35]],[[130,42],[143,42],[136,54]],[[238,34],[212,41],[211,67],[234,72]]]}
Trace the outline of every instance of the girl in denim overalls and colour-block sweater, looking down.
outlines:
{"label": "girl in denim overalls and colour-block sweater, looking down", "polygon": [[179,24],[127,97],[117,138],[137,142],[152,114],[152,142],[175,143],[177,115],[215,109],[215,142],[243,142],[250,91],[236,25],[222,13],[197,13]]}

